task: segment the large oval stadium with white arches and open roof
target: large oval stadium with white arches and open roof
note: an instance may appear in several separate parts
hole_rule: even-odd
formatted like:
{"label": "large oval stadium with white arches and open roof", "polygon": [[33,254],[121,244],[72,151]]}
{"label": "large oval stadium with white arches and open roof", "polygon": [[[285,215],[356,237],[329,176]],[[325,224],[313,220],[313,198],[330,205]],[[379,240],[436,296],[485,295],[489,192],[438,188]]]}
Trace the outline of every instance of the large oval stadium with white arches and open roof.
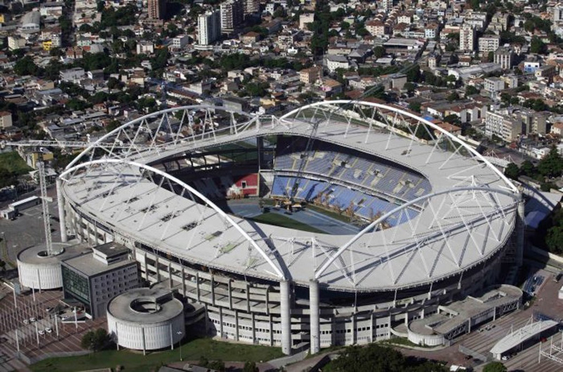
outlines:
{"label": "large oval stadium with white arches and open roof", "polygon": [[498,283],[523,248],[502,172],[372,101],[151,113],[77,156],[58,201],[63,242],[124,244],[144,279],[203,308],[205,333],[285,354],[400,335]]}

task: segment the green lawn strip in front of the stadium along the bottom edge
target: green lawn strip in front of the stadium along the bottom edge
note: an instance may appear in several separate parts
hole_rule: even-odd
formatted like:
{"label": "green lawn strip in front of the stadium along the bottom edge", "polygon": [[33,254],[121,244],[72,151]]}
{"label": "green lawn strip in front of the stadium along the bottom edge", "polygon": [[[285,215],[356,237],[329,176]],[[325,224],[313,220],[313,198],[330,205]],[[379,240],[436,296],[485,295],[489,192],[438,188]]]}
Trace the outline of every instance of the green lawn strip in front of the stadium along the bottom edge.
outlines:
{"label": "green lawn strip in front of the stadium along the bottom edge", "polygon": [[[142,352],[128,350],[107,350],[84,356],[51,358],[32,364],[32,371],[71,372],[95,368],[114,368],[123,366],[125,371],[149,372],[163,364],[179,361],[179,349],[153,352],[143,356]],[[198,338],[182,345],[182,358],[199,360],[200,356],[208,360],[222,361],[267,361],[283,356],[279,347],[258,345],[241,345],[230,342],[215,341],[210,338]]]}

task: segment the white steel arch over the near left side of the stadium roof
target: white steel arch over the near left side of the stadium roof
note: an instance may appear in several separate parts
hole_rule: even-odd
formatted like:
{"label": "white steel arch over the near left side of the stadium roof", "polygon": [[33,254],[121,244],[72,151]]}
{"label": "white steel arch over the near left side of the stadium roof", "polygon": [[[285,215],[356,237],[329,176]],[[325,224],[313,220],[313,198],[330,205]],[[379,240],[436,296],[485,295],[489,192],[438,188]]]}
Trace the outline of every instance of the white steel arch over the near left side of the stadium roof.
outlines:
{"label": "white steel arch over the near left side of the stadium roof", "polygon": [[276,266],[274,264],[274,262],[266,254],[266,252],[264,252],[264,250],[258,244],[256,244],[255,240],[253,240],[253,238],[250,237],[250,235],[248,235],[248,233],[246,233],[246,231],[244,231],[243,228],[241,228],[239,226],[239,224],[236,223],[231,218],[231,216],[229,216],[227,213],[224,213],[224,211],[222,211],[222,209],[220,209],[213,202],[211,202],[207,197],[205,197],[205,195],[201,194],[201,192],[198,192],[198,190],[195,190],[190,185],[187,185],[185,182],[183,182],[182,180],[179,180],[178,178],[175,178],[172,175],[169,175],[169,174],[167,174],[163,171],[159,171],[158,169],[153,168],[151,166],[148,166],[146,164],[138,163],[136,161],[129,161],[129,160],[125,160],[125,159],[99,159],[99,160],[94,160],[94,161],[88,161],[88,162],[85,162],[85,163],[80,163],[77,166],[72,166],[72,168],[66,169],[58,177],[61,178],[61,180],[67,181],[64,178],[65,175],[68,175],[72,172],[75,172],[75,171],[79,170],[80,168],[87,168],[87,167],[90,167],[90,166],[95,166],[96,164],[118,164],[118,163],[128,164],[129,166],[134,166],[134,167],[137,167],[137,168],[145,169],[146,171],[156,173],[156,174],[160,175],[161,177],[167,178],[167,180],[175,182],[177,185],[184,187],[185,190],[189,190],[189,192],[191,192],[192,194],[196,195],[196,197],[203,200],[203,202],[205,202],[205,204],[210,206],[215,212],[217,212],[222,218],[224,218],[225,221],[227,221],[230,225],[232,225],[242,235],[242,237],[244,237],[244,239],[246,239],[248,241],[248,243],[251,244],[251,246],[258,251],[258,253],[260,253],[262,258],[265,259],[265,261],[274,269],[275,273],[278,275],[278,277],[281,280],[287,279],[284,272],[281,271],[281,269],[278,268],[278,266]]}

